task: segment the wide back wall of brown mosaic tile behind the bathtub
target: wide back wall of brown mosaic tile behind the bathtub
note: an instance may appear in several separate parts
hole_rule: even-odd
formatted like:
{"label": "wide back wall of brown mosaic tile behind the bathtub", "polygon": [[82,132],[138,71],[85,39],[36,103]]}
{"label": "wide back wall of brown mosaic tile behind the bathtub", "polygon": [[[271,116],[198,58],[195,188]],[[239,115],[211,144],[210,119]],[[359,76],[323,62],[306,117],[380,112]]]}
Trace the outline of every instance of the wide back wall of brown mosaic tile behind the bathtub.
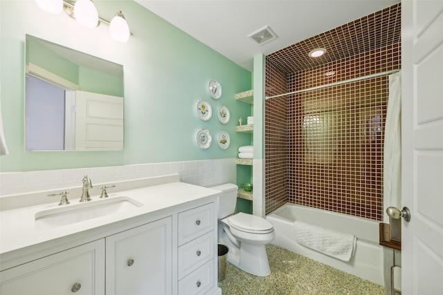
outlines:
{"label": "wide back wall of brown mosaic tile behind the bathtub", "polygon": [[[289,91],[328,84],[325,69],[345,80],[399,68],[399,53],[395,44],[289,75]],[[292,95],[289,202],[382,220],[387,102],[388,76]]]}

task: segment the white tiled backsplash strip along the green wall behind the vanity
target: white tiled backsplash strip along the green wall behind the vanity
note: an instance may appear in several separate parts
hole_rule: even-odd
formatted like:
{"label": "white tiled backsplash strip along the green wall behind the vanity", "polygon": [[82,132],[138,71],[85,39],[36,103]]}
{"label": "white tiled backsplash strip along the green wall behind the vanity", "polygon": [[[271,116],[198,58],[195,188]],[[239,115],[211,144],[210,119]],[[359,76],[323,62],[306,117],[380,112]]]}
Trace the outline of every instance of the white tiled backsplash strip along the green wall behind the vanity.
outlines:
{"label": "white tiled backsplash strip along the green wall behind the vanity", "polygon": [[237,182],[235,159],[105,166],[81,169],[0,173],[0,196],[81,187],[83,175],[93,184],[180,174],[182,182],[210,187]]}

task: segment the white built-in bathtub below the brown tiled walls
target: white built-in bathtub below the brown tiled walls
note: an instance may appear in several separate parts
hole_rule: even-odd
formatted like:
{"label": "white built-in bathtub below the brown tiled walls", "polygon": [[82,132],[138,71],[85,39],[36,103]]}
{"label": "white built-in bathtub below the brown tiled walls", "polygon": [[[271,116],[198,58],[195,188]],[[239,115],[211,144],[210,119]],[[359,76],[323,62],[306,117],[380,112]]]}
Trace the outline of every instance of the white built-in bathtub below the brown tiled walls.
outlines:
{"label": "white built-in bathtub below the brown tiled walls", "polygon": [[[296,252],[325,265],[341,269],[372,283],[383,282],[383,248],[379,245],[379,222],[366,218],[287,203],[266,216],[275,230],[273,245]],[[294,239],[293,222],[354,234],[357,237],[354,256],[347,262],[304,247]]]}

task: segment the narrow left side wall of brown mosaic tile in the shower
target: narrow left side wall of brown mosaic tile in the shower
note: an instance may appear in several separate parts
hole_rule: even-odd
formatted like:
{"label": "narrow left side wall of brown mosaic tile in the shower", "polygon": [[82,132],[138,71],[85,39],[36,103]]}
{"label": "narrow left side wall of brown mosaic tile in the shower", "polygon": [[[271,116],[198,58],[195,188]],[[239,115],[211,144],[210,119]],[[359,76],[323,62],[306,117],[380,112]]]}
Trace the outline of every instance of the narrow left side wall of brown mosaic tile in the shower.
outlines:
{"label": "narrow left side wall of brown mosaic tile in the shower", "polygon": [[[271,61],[266,61],[266,96],[287,92],[287,77]],[[273,211],[288,200],[287,99],[268,100],[265,104],[266,211]],[[272,184],[272,185],[268,185]],[[266,213],[269,213],[266,212]]]}

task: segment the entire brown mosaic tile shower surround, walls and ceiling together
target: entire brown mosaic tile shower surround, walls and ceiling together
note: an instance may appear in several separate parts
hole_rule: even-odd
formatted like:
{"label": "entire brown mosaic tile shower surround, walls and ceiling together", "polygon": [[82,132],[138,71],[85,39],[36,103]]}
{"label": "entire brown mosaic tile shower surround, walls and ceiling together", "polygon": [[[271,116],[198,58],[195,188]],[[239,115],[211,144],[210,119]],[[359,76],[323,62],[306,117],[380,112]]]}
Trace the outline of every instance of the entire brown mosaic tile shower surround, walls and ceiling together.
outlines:
{"label": "entire brown mosaic tile shower surround, walls and ceiling together", "polygon": [[[400,21],[397,4],[268,55],[266,96],[401,68]],[[331,39],[334,34],[339,36]],[[306,58],[291,57],[315,44],[332,44],[332,50],[323,47],[341,59],[307,65]],[[284,82],[287,90],[276,91]],[[382,220],[387,99],[388,77],[382,76],[267,100],[266,213],[294,202]],[[280,108],[286,108],[285,119]],[[286,131],[278,124],[286,124]],[[274,142],[275,129],[286,137]],[[287,153],[280,151],[284,140]],[[285,169],[274,164],[284,161]]]}

